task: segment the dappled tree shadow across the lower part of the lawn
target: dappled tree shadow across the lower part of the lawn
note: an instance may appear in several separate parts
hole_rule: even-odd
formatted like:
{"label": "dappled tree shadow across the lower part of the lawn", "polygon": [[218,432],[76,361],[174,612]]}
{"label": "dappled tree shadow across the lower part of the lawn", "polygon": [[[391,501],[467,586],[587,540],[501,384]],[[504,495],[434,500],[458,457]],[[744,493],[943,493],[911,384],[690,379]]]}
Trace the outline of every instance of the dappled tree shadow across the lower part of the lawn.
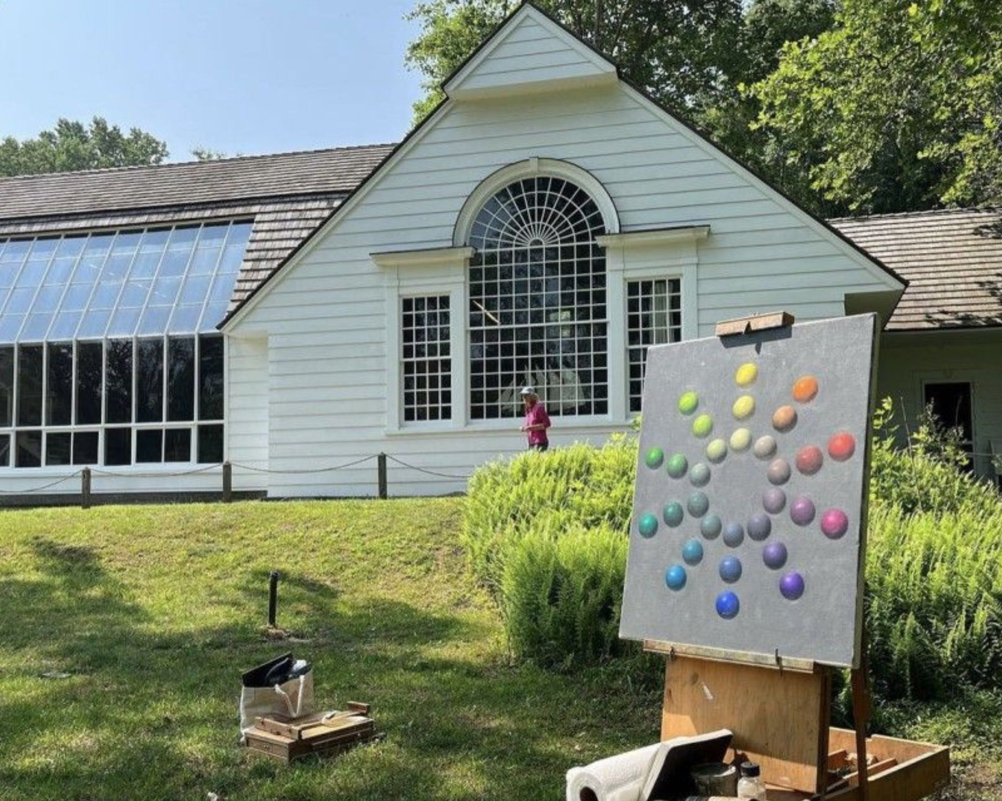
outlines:
{"label": "dappled tree shadow across the lower part of the lawn", "polygon": [[[610,698],[607,683],[466,656],[487,636],[469,618],[336,603],[335,588],[290,574],[280,603],[308,642],[270,642],[253,620],[157,632],[94,550],[33,550],[43,575],[9,580],[0,616],[0,664],[12,665],[0,671],[0,787],[16,797],[556,797],[571,765],[656,737],[656,710]],[[267,603],[263,575],[238,592]],[[369,701],[388,741],[289,768],[238,749],[239,673],[287,649],[314,663],[320,707]]]}

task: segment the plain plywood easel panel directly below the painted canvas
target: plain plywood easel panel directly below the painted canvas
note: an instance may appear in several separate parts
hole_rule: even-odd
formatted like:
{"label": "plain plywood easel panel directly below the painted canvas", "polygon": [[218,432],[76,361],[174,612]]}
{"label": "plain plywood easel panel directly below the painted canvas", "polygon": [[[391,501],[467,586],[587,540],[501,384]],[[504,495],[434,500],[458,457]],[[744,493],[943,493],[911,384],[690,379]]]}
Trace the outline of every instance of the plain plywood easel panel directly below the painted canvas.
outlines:
{"label": "plain plywood easel panel directly below the painted canvas", "polygon": [[829,673],[671,659],[661,739],[729,729],[733,749],[762,765],[770,784],[820,791],[828,755]]}

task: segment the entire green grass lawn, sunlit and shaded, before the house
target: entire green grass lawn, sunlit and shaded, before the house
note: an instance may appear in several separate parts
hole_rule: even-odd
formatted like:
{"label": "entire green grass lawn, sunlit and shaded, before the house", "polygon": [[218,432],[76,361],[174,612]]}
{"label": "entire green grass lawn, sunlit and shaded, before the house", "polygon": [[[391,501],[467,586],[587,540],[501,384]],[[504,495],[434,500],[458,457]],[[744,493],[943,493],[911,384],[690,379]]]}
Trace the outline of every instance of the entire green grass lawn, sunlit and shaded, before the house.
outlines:
{"label": "entire green grass lawn, sunlit and shaded, before the house", "polygon": [[[461,512],[442,499],[0,513],[0,798],[558,799],[572,765],[656,739],[657,689],[623,669],[510,664],[465,571]],[[285,642],[264,625],[274,569]],[[238,748],[239,673],[286,648],[314,663],[321,707],[371,702],[388,739],[292,767]],[[1002,799],[998,699],[883,718],[961,746],[952,797]]]}

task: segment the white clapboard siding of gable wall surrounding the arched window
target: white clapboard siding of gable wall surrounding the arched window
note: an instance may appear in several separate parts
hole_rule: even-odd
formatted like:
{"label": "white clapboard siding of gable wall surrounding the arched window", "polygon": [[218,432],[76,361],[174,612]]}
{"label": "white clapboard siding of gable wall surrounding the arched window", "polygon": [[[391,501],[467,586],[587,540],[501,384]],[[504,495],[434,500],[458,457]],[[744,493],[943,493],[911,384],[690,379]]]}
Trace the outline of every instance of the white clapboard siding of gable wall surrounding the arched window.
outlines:
{"label": "white clapboard siding of gable wall surrounding the arched window", "polygon": [[[545,44],[518,39],[510,45],[522,48],[526,41]],[[545,47],[538,52],[549,52]],[[393,309],[387,307],[386,276],[370,254],[449,246],[457,215],[477,185],[500,167],[533,156],[591,172],[611,195],[623,231],[710,226],[698,244],[697,296],[686,298],[697,317],[686,327],[694,323],[702,335],[718,319],[767,309],[784,308],[802,320],[841,315],[847,290],[888,288],[844,245],[806,224],[725,159],[696,146],[690,132],[624,87],[452,103],[234,324],[237,332],[245,325],[270,335],[273,470],[335,466],[383,451],[437,473],[466,475],[487,459],[524,448],[519,421],[454,433],[387,433],[386,315]],[[616,313],[610,309],[610,324],[623,325]],[[624,353],[609,357],[623,359]],[[232,436],[242,437],[235,431],[242,425],[230,422]],[[597,442],[621,429],[621,421],[575,428],[557,419],[552,442]],[[391,494],[464,486],[390,464]],[[275,474],[269,485],[275,497],[375,490],[374,461],[336,473]]]}

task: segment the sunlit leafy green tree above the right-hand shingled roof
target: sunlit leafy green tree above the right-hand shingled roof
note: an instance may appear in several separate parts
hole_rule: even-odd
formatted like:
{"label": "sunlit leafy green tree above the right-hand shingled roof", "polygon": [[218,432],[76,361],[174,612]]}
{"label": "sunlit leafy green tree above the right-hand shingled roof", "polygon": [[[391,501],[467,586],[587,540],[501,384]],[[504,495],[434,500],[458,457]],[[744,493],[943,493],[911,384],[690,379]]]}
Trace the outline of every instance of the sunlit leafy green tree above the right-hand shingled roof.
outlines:
{"label": "sunlit leafy green tree above the right-hand shingled roof", "polygon": [[752,87],[755,125],[829,208],[999,202],[1000,42],[997,0],[843,0]]}

